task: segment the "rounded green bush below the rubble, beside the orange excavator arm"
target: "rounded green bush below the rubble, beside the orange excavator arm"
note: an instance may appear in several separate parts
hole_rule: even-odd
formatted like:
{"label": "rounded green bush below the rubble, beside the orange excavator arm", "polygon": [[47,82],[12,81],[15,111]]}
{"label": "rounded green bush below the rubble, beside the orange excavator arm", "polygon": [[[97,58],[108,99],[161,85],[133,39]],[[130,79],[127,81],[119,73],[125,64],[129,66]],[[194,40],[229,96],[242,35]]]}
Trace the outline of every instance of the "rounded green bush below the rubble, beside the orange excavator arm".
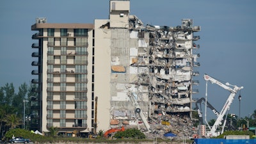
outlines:
{"label": "rounded green bush below the rubble, beside the orange excavator arm", "polygon": [[125,131],[116,132],[114,138],[136,138],[144,139],[146,138],[145,134],[138,129],[127,129]]}

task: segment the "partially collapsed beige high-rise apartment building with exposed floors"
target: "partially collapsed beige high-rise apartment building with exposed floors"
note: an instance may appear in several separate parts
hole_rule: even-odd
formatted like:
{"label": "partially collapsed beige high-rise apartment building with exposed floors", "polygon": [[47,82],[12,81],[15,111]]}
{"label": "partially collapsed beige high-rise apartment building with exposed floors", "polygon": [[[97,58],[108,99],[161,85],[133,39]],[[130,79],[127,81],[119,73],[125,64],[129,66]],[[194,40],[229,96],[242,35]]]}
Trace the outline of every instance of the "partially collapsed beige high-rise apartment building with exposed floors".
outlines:
{"label": "partially collapsed beige high-rise apartment building with exposed floors", "polygon": [[33,115],[41,131],[57,126],[89,133],[122,125],[143,131],[141,116],[154,131],[191,118],[200,26],[193,19],[175,27],[143,24],[129,15],[130,1],[109,4],[109,19],[94,24],[37,19],[32,26],[39,31],[33,35],[39,40],[33,44],[39,108]]}

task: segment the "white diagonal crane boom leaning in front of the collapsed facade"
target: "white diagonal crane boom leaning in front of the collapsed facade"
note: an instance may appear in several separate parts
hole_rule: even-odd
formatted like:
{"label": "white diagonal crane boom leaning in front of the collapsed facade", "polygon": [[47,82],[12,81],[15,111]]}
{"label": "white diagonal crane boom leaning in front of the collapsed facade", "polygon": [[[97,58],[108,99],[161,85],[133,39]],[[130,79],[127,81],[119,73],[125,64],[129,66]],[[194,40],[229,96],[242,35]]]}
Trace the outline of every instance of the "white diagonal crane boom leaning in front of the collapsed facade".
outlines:
{"label": "white diagonal crane boom leaning in front of the collapsed facade", "polygon": [[143,124],[145,125],[147,132],[150,132],[150,125],[148,124],[147,118],[145,117],[145,115],[143,114],[143,112],[141,111],[141,108],[138,104],[138,102],[135,100],[134,95],[131,91],[127,92],[128,97],[130,97],[132,104],[135,108],[135,112],[138,113],[141,117],[141,120],[143,122]]}

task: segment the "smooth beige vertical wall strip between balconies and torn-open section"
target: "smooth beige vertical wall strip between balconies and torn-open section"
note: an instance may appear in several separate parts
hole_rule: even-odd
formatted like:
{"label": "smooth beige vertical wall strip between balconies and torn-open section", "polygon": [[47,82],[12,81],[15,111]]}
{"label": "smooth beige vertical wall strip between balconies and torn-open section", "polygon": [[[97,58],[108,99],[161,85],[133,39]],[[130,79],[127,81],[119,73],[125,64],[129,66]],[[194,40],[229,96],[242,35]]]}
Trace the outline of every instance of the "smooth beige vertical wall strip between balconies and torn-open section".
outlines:
{"label": "smooth beige vertical wall strip between balconies and torn-open section", "polygon": [[110,75],[111,75],[111,30],[100,28],[109,20],[95,20],[95,97],[98,97],[97,131],[109,129]]}

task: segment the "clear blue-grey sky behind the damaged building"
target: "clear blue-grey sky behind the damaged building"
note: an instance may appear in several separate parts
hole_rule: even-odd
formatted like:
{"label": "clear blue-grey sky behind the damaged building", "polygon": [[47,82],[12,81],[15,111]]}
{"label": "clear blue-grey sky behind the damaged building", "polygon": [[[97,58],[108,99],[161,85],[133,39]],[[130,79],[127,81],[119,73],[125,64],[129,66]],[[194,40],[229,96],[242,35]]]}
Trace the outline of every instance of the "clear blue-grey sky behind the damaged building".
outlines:
{"label": "clear blue-grey sky behind the damaged building", "polygon": [[[239,116],[238,95],[241,94],[241,117],[252,115],[256,109],[254,91],[256,60],[256,1],[255,0],[131,0],[131,13],[144,24],[180,26],[182,19],[193,19],[201,31],[194,33],[200,40],[199,90],[193,98],[205,97],[204,74],[221,82],[244,86],[230,106],[230,113]],[[0,86],[13,83],[19,88],[36,78],[31,75],[31,31],[36,17],[46,17],[47,23],[91,23],[108,19],[109,0],[1,0],[0,1]],[[17,89],[18,90],[18,89]],[[16,92],[17,93],[17,92]],[[208,100],[219,112],[230,93],[216,84],[208,83]],[[207,111],[207,115],[212,115]],[[211,118],[216,118],[214,115]],[[210,119],[211,119],[210,118]]]}

